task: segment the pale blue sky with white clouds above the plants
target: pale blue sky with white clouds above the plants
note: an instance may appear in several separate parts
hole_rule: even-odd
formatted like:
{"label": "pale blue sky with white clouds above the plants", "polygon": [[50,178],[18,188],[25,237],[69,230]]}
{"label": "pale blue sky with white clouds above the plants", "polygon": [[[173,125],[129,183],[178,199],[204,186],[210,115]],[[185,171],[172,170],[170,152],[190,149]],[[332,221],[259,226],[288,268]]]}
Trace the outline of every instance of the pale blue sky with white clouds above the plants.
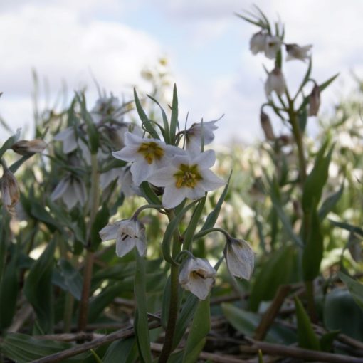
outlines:
{"label": "pale blue sky with white clouds above the plants", "polygon": [[[285,23],[288,43],[313,44],[313,74],[321,83],[340,72],[323,95],[332,105],[363,77],[363,1],[257,0],[270,20]],[[42,80],[43,105],[52,105],[63,85],[68,95],[88,88],[131,94],[140,71],[167,57],[179,90],[181,117],[191,122],[225,114],[216,142],[251,142],[262,137],[259,107],[265,100],[262,55],[253,56],[249,39],[258,30],[233,15],[252,9],[246,0],[14,0],[0,5],[0,115],[11,127],[31,125],[35,69]],[[293,83],[305,72],[290,62]],[[43,80],[47,80],[47,86]],[[48,103],[47,103],[48,102]],[[326,107],[327,107],[326,106]],[[0,131],[1,132],[1,131]],[[3,139],[0,134],[0,140]]]}

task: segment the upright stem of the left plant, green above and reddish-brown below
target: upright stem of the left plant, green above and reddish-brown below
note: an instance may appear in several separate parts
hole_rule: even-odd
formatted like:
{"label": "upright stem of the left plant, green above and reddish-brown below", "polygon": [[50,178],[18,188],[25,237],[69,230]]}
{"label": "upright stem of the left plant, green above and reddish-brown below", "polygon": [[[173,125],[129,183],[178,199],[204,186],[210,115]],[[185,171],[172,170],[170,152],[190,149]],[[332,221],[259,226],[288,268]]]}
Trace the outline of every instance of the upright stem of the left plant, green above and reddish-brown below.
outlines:
{"label": "upright stem of the left plant, green above and reddish-brown below", "polygon": [[78,330],[84,331],[87,326],[88,300],[90,298],[90,283],[92,279],[93,261],[95,259],[93,251],[90,251],[90,231],[95,220],[100,203],[100,179],[98,175],[97,154],[91,155],[91,199],[90,199],[90,221],[88,224],[87,243],[88,249],[85,256],[85,268],[83,270],[83,287],[80,299],[80,315],[78,317]]}

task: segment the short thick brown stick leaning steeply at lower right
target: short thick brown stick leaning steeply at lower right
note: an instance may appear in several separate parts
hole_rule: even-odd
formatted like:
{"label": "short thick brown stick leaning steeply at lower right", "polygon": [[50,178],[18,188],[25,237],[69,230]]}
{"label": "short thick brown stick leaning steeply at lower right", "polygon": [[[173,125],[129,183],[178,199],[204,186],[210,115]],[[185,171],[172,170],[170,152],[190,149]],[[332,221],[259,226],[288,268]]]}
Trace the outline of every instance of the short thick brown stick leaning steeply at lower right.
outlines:
{"label": "short thick brown stick leaning steeply at lower right", "polygon": [[268,307],[268,310],[266,310],[266,312],[263,314],[261,322],[256,328],[255,334],[253,336],[254,339],[263,340],[265,338],[268,329],[272,325],[273,320],[275,320],[276,315],[278,315],[280,307],[283,305],[283,302],[288,293],[290,293],[290,290],[290,285],[280,285],[278,291],[275,294],[275,298],[273,298],[273,302]]}

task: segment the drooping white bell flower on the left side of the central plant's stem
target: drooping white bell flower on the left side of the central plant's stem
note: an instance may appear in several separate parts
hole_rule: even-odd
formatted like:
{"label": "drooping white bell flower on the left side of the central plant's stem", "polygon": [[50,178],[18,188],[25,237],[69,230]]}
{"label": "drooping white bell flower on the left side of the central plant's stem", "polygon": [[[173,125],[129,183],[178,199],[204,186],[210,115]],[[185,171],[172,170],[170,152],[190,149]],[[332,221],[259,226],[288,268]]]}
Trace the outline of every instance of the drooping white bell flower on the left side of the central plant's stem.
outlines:
{"label": "drooping white bell flower on the left side of the central plant's stem", "polygon": [[145,226],[137,219],[123,219],[107,224],[99,234],[102,241],[116,240],[116,255],[119,257],[125,256],[135,247],[140,256],[147,254]]}

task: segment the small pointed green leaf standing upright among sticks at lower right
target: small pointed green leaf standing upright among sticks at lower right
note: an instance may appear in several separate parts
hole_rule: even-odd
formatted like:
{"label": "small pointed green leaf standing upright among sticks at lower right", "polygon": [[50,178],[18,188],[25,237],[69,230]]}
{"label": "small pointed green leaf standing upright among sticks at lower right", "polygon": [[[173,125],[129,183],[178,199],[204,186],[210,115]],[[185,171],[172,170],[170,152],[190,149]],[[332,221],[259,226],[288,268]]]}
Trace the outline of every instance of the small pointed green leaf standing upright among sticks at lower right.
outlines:
{"label": "small pointed green leaf standing upright among sticks at lower right", "polygon": [[310,318],[305,312],[302,303],[295,296],[296,319],[298,320],[298,343],[299,347],[312,350],[320,350],[320,342],[315,335]]}

